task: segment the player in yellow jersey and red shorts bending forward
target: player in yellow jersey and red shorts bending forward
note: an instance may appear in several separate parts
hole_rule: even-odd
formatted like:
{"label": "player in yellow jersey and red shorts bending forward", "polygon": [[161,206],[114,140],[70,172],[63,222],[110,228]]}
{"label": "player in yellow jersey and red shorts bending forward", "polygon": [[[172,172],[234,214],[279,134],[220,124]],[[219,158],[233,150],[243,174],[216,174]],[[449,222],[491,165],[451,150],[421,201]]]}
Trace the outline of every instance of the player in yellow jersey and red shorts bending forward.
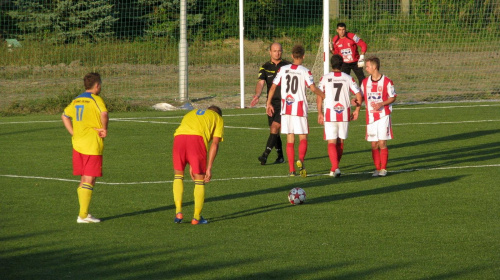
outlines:
{"label": "player in yellow jersey and red shorts bending forward", "polygon": [[212,178],[212,166],[223,134],[222,110],[217,106],[210,106],[207,110],[190,111],[175,131],[172,151],[175,174],[173,184],[175,223],[181,223],[183,219],[184,169],[186,164],[189,164],[189,173],[195,185],[194,218],[191,224],[208,224],[208,221],[200,215],[205,202],[205,183]]}

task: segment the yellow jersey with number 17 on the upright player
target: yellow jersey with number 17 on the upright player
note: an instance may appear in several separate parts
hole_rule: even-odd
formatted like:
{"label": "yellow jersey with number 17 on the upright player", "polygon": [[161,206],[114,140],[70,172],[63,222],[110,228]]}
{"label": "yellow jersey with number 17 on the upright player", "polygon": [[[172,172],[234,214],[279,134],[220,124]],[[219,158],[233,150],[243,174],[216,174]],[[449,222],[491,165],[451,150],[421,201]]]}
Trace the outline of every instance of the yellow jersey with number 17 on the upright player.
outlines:
{"label": "yellow jersey with number 17 on the upright player", "polygon": [[84,92],[64,109],[64,116],[73,123],[73,149],[84,155],[102,155],[104,142],[94,128],[103,128],[101,113],[106,105],[98,95]]}

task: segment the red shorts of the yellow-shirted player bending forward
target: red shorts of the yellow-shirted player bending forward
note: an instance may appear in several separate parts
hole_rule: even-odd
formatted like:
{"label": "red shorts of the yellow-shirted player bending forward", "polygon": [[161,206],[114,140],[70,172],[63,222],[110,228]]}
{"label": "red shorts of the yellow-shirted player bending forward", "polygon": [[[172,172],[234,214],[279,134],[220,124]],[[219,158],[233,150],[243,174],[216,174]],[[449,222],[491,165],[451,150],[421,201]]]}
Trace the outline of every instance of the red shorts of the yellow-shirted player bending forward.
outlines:
{"label": "red shorts of the yellow-shirted player bending forward", "polygon": [[207,148],[201,136],[175,136],[172,157],[174,170],[184,171],[189,163],[194,174],[205,174],[207,171]]}

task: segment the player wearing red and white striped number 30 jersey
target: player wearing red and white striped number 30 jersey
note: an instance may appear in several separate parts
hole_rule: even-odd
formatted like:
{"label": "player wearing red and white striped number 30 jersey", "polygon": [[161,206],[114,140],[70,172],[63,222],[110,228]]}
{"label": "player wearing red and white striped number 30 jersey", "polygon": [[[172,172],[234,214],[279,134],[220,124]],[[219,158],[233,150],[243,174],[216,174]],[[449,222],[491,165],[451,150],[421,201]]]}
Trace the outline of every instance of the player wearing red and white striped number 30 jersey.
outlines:
{"label": "player wearing red and white striped number 30 jersey", "polygon": [[302,66],[305,50],[301,45],[296,45],[292,49],[293,64],[280,68],[273,85],[269,90],[267,98],[267,114],[272,116],[274,108],[271,100],[277,86],[281,86],[281,134],[287,134],[286,154],[288,156],[289,174],[295,175],[295,134],[299,135],[299,160],[297,167],[302,177],[307,176],[304,168],[304,159],[307,152],[307,134],[309,126],[307,124],[307,99],[306,88],[309,88],[317,95],[324,98],[324,93],[314,85],[311,71]]}

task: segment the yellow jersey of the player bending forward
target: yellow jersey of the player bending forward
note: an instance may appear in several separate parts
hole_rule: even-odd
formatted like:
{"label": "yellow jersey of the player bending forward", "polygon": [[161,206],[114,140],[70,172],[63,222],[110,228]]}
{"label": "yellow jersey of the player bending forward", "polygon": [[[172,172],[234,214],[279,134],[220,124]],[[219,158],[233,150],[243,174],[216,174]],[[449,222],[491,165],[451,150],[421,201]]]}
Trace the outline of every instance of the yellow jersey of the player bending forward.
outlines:
{"label": "yellow jersey of the player bending forward", "polygon": [[224,121],[222,117],[212,110],[192,110],[187,113],[174,133],[177,135],[199,135],[203,137],[205,147],[213,137],[221,138],[224,134]]}

